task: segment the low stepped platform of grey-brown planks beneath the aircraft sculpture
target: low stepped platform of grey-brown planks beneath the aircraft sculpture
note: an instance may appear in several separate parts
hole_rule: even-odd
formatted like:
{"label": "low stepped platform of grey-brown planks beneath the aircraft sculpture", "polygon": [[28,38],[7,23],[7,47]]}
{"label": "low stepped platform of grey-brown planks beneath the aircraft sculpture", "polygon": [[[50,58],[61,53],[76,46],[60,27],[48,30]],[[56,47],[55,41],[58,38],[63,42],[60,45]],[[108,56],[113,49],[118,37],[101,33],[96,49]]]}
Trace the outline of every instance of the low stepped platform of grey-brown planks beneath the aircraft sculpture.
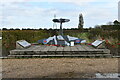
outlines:
{"label": "low stepped platform of grey-brown planks beneath the aircraft sculpture", "polygon": [[11,50],[10,56],[110,56],[110,50],[96,49],[89,45],[75,45],[73,47],[36,45],[27,49]]}

